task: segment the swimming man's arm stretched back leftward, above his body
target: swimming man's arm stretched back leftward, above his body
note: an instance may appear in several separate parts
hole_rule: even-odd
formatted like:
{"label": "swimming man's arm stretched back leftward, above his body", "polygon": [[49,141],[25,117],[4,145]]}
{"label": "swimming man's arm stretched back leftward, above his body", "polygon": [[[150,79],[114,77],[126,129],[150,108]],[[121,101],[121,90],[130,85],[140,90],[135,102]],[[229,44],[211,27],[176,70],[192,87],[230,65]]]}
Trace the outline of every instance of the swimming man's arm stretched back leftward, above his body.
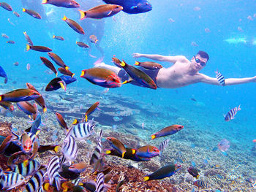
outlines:
{"label": "swimming man's arm stretched back leftward, above his body", "polygon": [[151,55],[151,54],[140,54],[140,53],[133,53],[132,56],[134,58],[150,58],[156,61],[167,61],[170,63],[176,63],[177,61],[185,62],[187,58],[183,55],[177,56],[164,56],[164,55]]}

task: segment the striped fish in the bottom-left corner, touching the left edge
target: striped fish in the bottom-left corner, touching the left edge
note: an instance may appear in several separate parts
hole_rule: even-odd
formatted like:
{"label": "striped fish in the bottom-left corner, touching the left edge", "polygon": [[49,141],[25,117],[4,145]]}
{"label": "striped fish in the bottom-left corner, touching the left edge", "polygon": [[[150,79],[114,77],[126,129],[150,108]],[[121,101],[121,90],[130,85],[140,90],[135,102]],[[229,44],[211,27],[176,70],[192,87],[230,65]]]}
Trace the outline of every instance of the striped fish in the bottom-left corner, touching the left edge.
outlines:
{"label": "striped fish in the bottom-left corner, touching the left edge", "polygon": [[23,184],[25,177],[18,173],[4,173],[0,181],[0,190],[10,190]]}

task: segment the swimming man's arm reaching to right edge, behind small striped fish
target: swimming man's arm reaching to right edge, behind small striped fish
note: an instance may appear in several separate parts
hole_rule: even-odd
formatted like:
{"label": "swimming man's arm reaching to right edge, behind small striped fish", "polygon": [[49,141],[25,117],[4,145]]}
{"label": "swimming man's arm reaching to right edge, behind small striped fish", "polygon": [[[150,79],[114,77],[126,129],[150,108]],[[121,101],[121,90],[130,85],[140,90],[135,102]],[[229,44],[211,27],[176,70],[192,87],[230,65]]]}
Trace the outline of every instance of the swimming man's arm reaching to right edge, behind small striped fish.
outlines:
{"label": "swimming man's arm reaching to right edge, behind small striped fish", "polygon": [[[217,78],[213,77],[208,77],[205,74],[200,74],[201,75],[201,80],[200,82],[205,82],[211,85],[219,85],[219,82]],[[243,84],[247,82],[256,82],[256,76],[255,77],[245,77],[245,78],[228,78],[225,79],[225,85],[238,85],[238,84]]]}

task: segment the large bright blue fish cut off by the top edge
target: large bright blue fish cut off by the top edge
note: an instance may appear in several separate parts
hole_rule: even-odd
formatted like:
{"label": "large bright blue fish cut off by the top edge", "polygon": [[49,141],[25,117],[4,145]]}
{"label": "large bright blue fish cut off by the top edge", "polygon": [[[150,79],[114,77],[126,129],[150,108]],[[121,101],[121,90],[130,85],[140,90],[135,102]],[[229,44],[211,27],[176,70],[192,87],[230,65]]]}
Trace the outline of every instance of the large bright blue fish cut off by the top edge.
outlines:
{"label": "large bright blue fish cut off by the top edge", "polygon": [[149,12],[152,5],[147,0],[103,0],[106,4],[118,4],[129,14]]}

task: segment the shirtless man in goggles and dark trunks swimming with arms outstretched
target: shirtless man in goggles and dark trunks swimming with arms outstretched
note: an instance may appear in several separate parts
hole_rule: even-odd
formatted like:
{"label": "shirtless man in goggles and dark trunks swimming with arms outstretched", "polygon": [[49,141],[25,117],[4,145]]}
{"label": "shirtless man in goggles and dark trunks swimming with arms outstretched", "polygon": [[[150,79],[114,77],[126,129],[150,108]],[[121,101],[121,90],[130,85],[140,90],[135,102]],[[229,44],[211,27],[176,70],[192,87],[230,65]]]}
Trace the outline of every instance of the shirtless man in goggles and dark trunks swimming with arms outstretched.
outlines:
{"label": "shirtless man in goggles and dark trunks swimming with arms outstretched", "polygon": [[[161,69],[143,69],[143,72],[148,74],[152,80],[154,80],[159,88],[181,88],[187,85],[191,85],[197,82],[204,82],[211,85],[220,85],[217,78],[208,77],[206,74],[199,73],[201,69],[206,66],[209,56],[204,51],[199,51],[197,55],[194,55],[189,61],[183,55],[176,56],[164,56],[164,55],[148,55],[133,53],[134,58],[150,58],[156,61],[166,61],[173,63],[168,68],[162,67]],[[110,66],[104,63],[96,64],[94,67],[100,67],[110,69],[116,72],[121,80],[127,80],[127,74],[123,69],[117,66]],[[228,78],[225,79],[225,85],[237,85],[246,82],[256,82],[255,77],[246,78]],[[132,83],[138,85],[137,83]]]}

